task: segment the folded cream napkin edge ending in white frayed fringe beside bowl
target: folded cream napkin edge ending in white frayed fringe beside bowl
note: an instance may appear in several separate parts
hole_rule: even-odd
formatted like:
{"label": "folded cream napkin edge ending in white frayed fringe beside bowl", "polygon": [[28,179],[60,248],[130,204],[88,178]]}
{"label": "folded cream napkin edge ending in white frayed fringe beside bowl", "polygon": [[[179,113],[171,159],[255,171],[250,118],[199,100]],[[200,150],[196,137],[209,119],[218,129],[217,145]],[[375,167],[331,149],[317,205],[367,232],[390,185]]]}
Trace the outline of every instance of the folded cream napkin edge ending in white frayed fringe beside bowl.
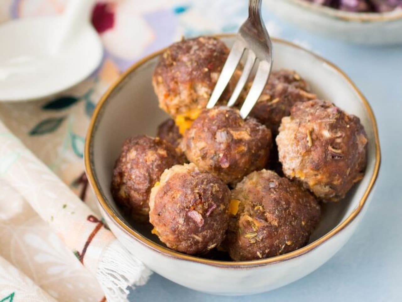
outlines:
{"label": "folded cream napkin edge ending in white frayed fringe beside bowl", "polygon": [[[2,122],[0,179],[28,201],[77,260],[96,276],[109,301],[127,300],[128,286],[142,285],[148,280],[149,270],[121,246],[107,225]],[[15,295],[21,297],[19,293]]]}

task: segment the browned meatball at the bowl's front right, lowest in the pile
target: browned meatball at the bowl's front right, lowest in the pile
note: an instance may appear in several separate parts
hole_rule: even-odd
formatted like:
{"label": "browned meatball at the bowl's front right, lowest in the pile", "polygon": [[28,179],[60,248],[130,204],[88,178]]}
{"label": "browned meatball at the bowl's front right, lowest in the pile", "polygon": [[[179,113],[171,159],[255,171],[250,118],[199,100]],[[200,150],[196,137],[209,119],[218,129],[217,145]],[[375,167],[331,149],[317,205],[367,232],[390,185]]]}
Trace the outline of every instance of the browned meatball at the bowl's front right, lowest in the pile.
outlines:
{"label": "browned meatball at the bowl's front right, lowest in the pile", "polygon": [[305,246],[320,218],[320,206],[310,192],[269,170],[252,172],[237,184],[230,212],[225,243],[235,261]]}

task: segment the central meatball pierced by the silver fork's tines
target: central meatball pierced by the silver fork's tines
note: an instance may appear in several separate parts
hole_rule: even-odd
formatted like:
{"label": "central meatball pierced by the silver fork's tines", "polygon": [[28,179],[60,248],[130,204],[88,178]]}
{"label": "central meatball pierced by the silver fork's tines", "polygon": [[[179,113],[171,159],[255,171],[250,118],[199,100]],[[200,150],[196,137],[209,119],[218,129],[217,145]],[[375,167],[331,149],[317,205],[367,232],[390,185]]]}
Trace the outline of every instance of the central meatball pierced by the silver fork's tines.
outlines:
{"label": "central meatball pierced by the silver fork's tines", "polygon": [[238,110],[204,110],[186,130],[183,150],[201,171],[211,172],[234,185],[269,160],[271,131],[253,118],[243,120]]}

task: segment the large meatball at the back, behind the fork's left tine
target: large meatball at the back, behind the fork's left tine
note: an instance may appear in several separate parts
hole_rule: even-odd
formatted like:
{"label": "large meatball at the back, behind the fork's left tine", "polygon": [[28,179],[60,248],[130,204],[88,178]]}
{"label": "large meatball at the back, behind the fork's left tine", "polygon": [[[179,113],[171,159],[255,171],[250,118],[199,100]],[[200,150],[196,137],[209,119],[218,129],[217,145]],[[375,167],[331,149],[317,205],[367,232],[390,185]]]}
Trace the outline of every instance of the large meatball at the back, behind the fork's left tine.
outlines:
{"label": "large meatball at the back, behind the fork's left tine", "polygon": [[[159,106],[173,118],[194,116],[205,108],[230,50],[214,37],[174,43],[160,57],[152,83]],[[227,101],[239,72],[221,99]]]}

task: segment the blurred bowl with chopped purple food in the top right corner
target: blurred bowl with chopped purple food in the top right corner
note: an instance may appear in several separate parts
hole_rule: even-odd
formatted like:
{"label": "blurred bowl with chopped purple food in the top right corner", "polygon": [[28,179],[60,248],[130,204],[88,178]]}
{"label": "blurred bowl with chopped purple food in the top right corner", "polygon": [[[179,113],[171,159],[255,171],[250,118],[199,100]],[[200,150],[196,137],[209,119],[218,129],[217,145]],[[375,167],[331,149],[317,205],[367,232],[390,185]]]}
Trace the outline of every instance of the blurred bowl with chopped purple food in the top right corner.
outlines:
{"label": "blurred bowl with chopped purple food in the top right corner", "polygon": [[402,43],[401,0],[265,0],[279,17],[347,42],[368,45]]}

